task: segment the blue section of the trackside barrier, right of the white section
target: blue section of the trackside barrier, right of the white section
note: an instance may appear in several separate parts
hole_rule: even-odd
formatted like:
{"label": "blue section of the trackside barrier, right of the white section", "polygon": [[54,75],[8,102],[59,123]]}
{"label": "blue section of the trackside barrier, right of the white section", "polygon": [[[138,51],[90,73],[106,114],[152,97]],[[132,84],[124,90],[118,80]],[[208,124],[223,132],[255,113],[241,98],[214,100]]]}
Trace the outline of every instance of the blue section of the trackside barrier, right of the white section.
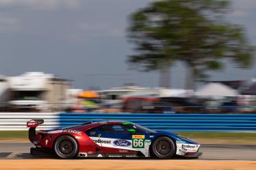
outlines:
{"label": "blue section of the trackside barrier, right of the white section", "polygon": [[155,130],[255,131],[255,114],[155,114],[155,113],[61,113],[60,126],[83,122],[124,120]]}

